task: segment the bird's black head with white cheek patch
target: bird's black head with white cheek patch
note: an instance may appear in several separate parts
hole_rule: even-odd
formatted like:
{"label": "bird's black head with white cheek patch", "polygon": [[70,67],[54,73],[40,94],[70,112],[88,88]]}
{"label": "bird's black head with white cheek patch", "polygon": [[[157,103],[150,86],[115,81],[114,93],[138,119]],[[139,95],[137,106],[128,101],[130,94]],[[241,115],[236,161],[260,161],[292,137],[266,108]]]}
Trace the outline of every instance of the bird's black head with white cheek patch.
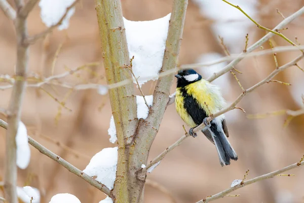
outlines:
{"label": "bird's black head with white cheek patch", "polygon": [[202,76],[193,69],[180,70],[175,77],[177,78],[177,87],[184,87],[202,79]]}

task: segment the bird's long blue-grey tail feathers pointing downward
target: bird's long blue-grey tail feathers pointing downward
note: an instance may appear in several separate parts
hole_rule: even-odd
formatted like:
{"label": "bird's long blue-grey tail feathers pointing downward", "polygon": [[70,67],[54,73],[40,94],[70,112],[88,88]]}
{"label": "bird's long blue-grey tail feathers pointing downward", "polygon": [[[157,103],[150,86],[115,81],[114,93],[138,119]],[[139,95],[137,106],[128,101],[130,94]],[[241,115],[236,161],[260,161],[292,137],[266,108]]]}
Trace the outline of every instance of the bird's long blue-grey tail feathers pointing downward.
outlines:
{"label": "bird's long blue-grey tail feathers pointing downward", "polygon": [[238,160],[238,155],[232,148],[224,132],[222,130],[219,131],[217,129],[212,129],[211,131],[220,164],[222,166],[229,165],[230,159]]}

